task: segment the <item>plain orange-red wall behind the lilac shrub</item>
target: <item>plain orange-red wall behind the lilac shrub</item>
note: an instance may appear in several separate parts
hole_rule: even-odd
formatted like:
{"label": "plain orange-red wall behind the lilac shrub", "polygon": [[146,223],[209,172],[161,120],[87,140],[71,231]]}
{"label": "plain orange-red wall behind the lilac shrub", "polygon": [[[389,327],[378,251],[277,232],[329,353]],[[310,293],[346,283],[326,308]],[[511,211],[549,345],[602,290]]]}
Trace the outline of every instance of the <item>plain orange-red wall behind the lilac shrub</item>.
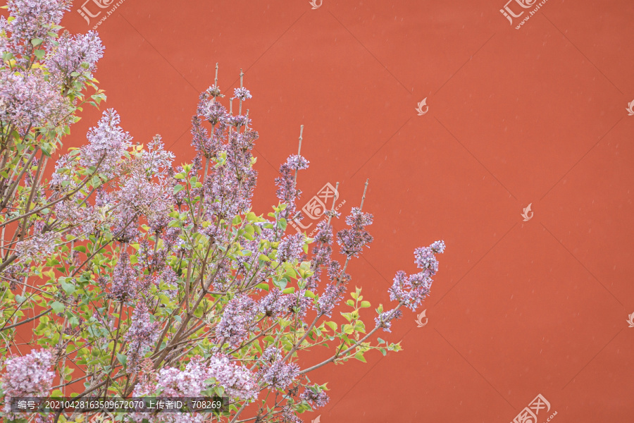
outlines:
{"label": "plain orange-red wall behind the lilac shrub", "polygon": [[[99,26],[106,106],[178,161],[216,62],[223,90],[244,70],[256,211],[300,124],[302,202],[340,181],[345,214],[370,178],[375,243],[351,266],[366,298],[389,302],[414,248],[446,241],[428,324],[405,312],[383,336],[402,353],[314,374],[332,400],[306,422],[506,423],[537,394],[540,423],[633,421],[634,4],[549,0],[516,30],[532,9],[509,3],[526,10],[509,25],[504,1],[125,0]],[[90,25],[82,4],[73,32],[116,2],[86,3]]]}

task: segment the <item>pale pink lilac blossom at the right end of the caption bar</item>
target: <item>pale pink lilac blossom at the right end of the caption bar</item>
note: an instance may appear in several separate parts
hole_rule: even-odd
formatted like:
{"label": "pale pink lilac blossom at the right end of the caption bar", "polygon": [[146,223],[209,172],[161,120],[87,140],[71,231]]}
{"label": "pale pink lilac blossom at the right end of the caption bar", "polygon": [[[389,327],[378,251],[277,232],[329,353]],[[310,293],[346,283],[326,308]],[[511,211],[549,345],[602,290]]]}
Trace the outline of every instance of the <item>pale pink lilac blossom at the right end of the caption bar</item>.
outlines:
{"label": "pale pink lilac blossom at the right end of the caption bar", "polygon": [[250,401],[258,396],[258,384],[249,369],[232,364],[223,355],[213,355],[210,358],[209,377],[216,379],[230,398]]}

